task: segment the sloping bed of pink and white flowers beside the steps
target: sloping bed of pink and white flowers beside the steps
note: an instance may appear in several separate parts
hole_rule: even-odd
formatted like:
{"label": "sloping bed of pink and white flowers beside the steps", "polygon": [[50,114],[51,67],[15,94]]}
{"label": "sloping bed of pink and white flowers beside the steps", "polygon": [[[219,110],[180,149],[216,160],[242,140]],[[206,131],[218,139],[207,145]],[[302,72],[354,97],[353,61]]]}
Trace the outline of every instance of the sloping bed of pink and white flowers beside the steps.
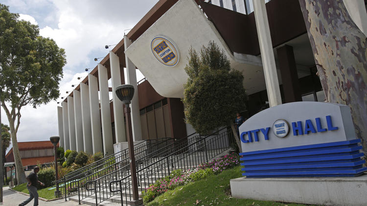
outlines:
{"label": "sloping bed of pink and white flowers beside the steps", "polygon": [[168,190],[174,189],[177,186],[202,180],[209,175],[219,174],[225,169],[239,165],[239,159],[239,155],[233,152],[217,160],[199,165],[196,168],[187,171],[183,171],[181,169],[174,170],[169,176],[157,180],[156,183],[149,185],[148,188],[145,188],[145,191],[141,192],[141,198],[143,199],[144,203],[148,203],[154,200],[157,196]]}

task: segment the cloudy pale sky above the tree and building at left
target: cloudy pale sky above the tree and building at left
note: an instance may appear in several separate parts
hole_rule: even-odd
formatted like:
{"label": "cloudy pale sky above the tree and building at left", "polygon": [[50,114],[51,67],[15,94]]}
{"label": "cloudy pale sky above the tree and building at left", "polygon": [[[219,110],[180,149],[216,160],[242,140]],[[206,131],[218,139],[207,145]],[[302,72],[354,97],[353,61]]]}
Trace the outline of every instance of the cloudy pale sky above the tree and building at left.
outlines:
{"label": "cloudy pale sky above the tree and building at left", "polygon": [[[94,58],[105,57],[123,38],[124,32],[136,23],[158,2],[158,0],[0,0],[9,6],[20,19],[37,24],[40,35],[56,41],[65,49],[67,64],[64,77],[59,84],[60,98],[57,101],[21,110],[21,124],[17,133],[18,142],[46,141],[57,136],[57,102],[71,91],[86,76],[85,68],[94,68]],[[124,31],[126,30],[126,31]],[[101,59],[100,59],[101,60]],[[126,75],[125,75],[126,76]],[[81,80],[77,78],[81,77]],[[137,72],[137,80],[143,76]],[[109,82],[111,85],[111,82]],[[8,124],[1,108],[1,123]],[[7,149],[9,151],[11,146]]]}

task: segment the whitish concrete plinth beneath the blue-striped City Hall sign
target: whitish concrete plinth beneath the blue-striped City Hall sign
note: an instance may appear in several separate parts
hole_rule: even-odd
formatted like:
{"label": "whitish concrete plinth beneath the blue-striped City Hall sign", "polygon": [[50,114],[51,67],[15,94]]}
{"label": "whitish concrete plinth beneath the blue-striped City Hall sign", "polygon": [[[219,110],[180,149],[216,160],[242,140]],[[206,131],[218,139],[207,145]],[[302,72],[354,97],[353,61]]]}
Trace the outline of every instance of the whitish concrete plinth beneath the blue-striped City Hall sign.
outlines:
{"label": "whitish concrete plinth beneath the blue-striped City Hall sign", "polygon": [[324,206],[366,206],[367,174],[338,178],[237,178],[232,197]]}

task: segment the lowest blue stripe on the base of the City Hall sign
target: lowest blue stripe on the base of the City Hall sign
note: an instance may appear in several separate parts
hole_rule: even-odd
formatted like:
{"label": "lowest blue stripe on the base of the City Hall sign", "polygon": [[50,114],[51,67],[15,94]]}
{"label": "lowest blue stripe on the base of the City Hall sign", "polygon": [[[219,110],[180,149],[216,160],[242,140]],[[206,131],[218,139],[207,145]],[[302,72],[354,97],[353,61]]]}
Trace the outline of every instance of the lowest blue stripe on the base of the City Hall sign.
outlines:
{"label": "lowest blue stripe on the base of the City Hall sign", "polygon": [[322,174],[358,174],[367,171],[367,167],[356,170],[318,170],[318,171],[284,171],[284,172],[258,172],[242,173],[243,176],[275,176],[275,175],[322,175]]}

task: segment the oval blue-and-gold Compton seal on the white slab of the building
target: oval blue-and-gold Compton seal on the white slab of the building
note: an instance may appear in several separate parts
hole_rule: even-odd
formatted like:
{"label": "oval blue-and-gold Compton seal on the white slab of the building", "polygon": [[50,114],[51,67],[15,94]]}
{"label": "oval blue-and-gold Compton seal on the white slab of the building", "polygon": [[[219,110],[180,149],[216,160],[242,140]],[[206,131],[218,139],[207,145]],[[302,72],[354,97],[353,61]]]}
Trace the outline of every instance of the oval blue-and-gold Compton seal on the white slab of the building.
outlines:
{"label": "oval blue-and-gold Compton seal on the white slab of the building", "polygon": [[155,37],[151,44],[153,55],[165,66],[174,66],[179,62],[179,51],[172,40],[164,36]]}

